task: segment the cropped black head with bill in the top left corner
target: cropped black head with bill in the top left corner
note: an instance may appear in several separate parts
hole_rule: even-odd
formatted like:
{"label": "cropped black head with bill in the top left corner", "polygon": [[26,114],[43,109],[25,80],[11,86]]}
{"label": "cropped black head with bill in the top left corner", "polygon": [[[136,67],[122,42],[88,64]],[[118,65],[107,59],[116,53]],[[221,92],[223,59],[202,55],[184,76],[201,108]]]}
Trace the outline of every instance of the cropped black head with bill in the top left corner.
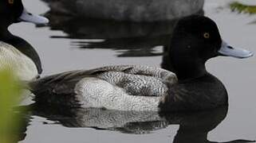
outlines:
{"label": "cropped black head with bill in the top left corner", "polygon": [[40,17],[27,12],[22,4],[22,0],[1,0],[0,17],[1,27],[8,27],[18,21],[29,21],[37,24],[48,22],[48,19],[45,17]]}

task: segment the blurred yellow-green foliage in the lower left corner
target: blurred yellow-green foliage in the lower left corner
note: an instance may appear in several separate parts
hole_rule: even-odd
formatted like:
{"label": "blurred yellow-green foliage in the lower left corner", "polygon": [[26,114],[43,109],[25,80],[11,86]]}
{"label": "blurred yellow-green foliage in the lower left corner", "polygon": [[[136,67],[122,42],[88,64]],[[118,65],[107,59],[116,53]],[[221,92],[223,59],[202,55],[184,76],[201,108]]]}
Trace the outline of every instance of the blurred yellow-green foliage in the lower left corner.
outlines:
{"label": "blurred yellow-green foliage in the lower left corner", "polygon": [[12,108],[17,105],[22,88],[17,78],[9,70],[0,71],[0,142],[10,143],[15,140],[12,130],[18,127],[18,117]]}

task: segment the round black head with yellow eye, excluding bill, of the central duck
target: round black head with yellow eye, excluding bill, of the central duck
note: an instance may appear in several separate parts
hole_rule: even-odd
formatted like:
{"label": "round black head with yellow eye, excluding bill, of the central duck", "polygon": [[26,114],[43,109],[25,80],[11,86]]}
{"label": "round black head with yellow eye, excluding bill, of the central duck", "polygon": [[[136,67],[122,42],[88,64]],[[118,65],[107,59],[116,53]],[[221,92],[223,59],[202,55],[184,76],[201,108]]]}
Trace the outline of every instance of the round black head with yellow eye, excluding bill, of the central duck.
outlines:
{"label": "round black head with yellow eye, excluding bill, of the central duck", "polygon": [[193,15],[178,21],[173,33],[172,43],[182,41],[181,45],[173,47],[174,52],[191,56],[201,62],[217,56],[222,39],[214,21],[208,17]]}

